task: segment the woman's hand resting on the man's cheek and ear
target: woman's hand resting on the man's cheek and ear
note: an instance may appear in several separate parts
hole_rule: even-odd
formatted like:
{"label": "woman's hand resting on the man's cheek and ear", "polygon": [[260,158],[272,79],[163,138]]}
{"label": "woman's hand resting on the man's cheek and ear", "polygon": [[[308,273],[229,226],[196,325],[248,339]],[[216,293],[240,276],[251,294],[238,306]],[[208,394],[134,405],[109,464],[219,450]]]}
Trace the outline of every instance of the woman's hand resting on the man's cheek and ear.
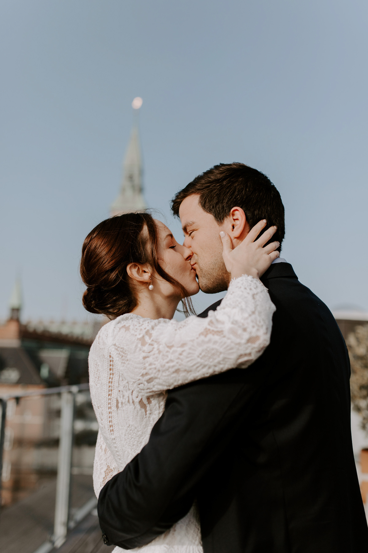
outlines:
{"label": "woman's hand resting on the man's cheek and ear", "polygon": [[227,272],[231,274],[232,279],[244,274],[259,278],[270,267],[271,263],[279,257],[279,252],[275,251],[280,246],[279,242],[272,242],[268,246],[263,247],[276,232],[277,227],[268,228],[255,241],[255,238],[257,238],[265,226],[265,219],[259,221],[250,230],[243,242],[234,249],[232,248],[230,236],[224,231],[220,232],[223,246],[222,257]]}

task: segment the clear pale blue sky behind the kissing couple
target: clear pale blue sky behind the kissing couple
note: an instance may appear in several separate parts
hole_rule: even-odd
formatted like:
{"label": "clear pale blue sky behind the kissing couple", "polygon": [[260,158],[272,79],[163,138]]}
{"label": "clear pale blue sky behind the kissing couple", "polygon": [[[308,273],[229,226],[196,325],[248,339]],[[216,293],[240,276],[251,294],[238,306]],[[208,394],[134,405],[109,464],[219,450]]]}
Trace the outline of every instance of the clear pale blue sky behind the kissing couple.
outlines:
{"label": "clear pale blue sky behind the kissing couple", "polygon": [[[147,204],[219,162],[266,173],[284,257],[329,307],[368,309],[368,4],[3,0],[0,316],[84,319],[79,254],[118,193],[132,123]],[[198,309],[214,301],[202,295]]]}

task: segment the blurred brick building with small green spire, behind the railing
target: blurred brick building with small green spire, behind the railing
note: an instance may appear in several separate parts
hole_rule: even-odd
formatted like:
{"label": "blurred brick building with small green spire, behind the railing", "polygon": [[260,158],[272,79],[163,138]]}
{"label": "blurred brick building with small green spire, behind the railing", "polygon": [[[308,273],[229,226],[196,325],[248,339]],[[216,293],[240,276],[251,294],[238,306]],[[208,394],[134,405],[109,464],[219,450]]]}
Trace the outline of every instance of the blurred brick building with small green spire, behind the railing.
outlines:
{"label": "blurred brick building with small green spire, behind the railing", "polygon": [[[61,322],[23,324],[20,321],[20,282],[14,285],[9,319],[0,325],[0,395],[7,396],[45,387],[88,382],[88,353],[100,328]],[[92,471],[98,425],[86,394],[78,394],[79,469]],[[84,411],[84,414],[82,413]],[[79,422],[78,422],[79,420]],[[2,503],[24,498],[42,478],[55,476],[60,397],[10,399],[7,405],[2,472]],[[82,447],[82,450],[81,450]],[[77,453],[76,453],[77,455]]]}

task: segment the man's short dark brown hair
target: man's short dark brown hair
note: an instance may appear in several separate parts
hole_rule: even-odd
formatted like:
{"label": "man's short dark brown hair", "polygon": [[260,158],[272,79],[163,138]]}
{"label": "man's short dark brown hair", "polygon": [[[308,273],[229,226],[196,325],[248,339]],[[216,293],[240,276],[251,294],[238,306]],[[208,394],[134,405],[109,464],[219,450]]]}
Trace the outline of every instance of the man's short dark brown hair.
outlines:
{"label": "man's short dark brown hair", "polygon": [[278,240],[281,244],[284,239],[285,210],[281,196],[270,179],[257,169],[244,163],[215,165],[196,176],[174,196],[171,204],[174,215],[179,215],[180,204],[192,194],[199,195],[202,210],[211,213],[219,225],[237,206],[244,210],[250,228],[261,219],[266,219],[267,226],[263,232],[276,225],[278,230],[272,240]]}

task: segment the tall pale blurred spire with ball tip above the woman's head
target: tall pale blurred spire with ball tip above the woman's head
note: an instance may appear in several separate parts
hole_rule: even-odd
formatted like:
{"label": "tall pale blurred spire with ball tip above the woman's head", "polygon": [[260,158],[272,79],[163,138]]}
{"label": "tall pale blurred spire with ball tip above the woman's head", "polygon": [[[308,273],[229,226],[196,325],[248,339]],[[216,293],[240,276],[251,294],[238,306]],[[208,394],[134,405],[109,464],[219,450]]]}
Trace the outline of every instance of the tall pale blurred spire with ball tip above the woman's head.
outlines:
{"label": "tall pale blurred spire with ball tip above the woman's head", "polygon": [[[138,110],[141,105],[142,98],[134,98],[132,107]],[[142,156],[138,124],[135,121],[125,154],[124,176],[120,193],[111,205],[111,216],[129,213],[130,211],[140,211],[145,208],[146,204],[142,193]]]}

